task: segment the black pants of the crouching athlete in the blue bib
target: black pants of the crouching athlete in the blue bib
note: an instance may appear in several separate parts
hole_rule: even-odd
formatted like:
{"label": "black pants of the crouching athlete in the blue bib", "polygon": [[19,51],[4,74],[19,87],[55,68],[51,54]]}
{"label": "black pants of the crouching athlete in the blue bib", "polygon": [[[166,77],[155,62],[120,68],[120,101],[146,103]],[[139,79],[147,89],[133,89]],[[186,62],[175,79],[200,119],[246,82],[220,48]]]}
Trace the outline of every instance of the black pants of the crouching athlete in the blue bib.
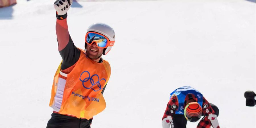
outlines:
{"label": "black pants of the crouching athlete in the blue bib", "polygon": [[[219,109],[217,108],[217,106],[215,106],[214,104],[211,104],[212,109],[215,112],[215,115],[219,116]],[[204,116],[204,114],[202,113],[202,116]],[[187,126],[187,119],[184,117],[184,114],[174,114],[173,115],[173,124],[174,127],[177,128],[186,128]]]}

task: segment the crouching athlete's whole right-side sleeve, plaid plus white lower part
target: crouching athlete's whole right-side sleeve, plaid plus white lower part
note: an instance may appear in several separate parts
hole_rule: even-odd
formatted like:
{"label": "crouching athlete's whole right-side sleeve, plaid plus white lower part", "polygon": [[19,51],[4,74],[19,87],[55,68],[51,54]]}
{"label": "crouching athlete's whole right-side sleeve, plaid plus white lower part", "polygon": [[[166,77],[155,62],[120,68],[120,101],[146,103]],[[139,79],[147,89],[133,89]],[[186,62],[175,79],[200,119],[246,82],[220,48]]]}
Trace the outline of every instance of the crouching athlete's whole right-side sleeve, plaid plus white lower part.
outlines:
{"label": "crouching athlete's whole right-side sleeve, plaid plus white lower part", "polygon": [[203,119],[198,123],[197,128],[220,128],[217,115],[215,115],[214,110],[210,103],[203,97]]}

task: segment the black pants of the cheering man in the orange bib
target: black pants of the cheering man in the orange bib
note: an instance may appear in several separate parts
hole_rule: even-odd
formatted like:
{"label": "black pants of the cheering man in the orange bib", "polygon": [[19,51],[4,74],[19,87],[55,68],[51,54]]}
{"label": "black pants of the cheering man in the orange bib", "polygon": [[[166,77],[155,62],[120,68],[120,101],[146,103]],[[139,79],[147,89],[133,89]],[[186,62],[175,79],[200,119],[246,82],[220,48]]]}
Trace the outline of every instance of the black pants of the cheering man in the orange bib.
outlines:
{"label": "black pants of the cheering man in the orange bib", "polygon": [[72,116],[52,113],[46,128],[90,128],[92,119],[79,119]]}

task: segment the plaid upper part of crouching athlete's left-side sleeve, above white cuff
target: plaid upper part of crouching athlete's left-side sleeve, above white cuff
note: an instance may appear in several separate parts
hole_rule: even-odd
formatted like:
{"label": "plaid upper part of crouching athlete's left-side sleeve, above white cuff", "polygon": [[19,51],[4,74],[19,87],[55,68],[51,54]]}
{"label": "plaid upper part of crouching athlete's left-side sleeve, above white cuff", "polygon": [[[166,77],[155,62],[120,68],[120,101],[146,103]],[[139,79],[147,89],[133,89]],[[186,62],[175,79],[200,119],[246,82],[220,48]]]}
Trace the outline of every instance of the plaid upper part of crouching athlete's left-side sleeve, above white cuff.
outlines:
{"label": "plaid upper part of crouching athlete's left-side sleeve, above white cuff", "polygon": [[168,115],[173,117],[173,114],[175,113],[178,107],[179,107],[179,103],[178,103],[177,97],[172,96],[167,104],[162,120],[166,118]]}

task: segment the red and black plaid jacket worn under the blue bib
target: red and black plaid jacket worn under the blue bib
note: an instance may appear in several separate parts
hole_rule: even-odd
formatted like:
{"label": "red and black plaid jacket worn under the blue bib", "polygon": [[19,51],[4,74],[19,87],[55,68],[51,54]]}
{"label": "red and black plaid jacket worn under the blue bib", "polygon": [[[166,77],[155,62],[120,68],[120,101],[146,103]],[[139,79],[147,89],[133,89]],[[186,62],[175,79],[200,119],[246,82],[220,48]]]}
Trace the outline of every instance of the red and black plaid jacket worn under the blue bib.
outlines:
{"label": "red and black plaid jacket worn under the blue bib", "polygon": [[[197,101],[197,98],[193,94],[188,94],[185,98],[185,102],[189,100],[189,97],[191,97]],[[175,114],[175,111],[179,108],[179,103],[176,96],[172,96],[167,104],[166,110],[164,112],[164,116],[162,118],[165,119],[167,116],[171,116],[173,118],[173,115]],[[183,106],[185,108],[185,106]],[[214,114],[214,110],[212,109],[209,102],[203,97],[203,114],[205,115],[203,119],[198,123],[197,128],[210,128],[212,126],[210,119],[208,119],[209,114]],[[213,117],[212,117],[213,118]],[[217,120],[217,119],[215,119]],[[163,123],[170,123],[170,120],[162,121]],[[172,127],[176,128],[173,124]],[[219,126],[217,127],[219,128]]]}

